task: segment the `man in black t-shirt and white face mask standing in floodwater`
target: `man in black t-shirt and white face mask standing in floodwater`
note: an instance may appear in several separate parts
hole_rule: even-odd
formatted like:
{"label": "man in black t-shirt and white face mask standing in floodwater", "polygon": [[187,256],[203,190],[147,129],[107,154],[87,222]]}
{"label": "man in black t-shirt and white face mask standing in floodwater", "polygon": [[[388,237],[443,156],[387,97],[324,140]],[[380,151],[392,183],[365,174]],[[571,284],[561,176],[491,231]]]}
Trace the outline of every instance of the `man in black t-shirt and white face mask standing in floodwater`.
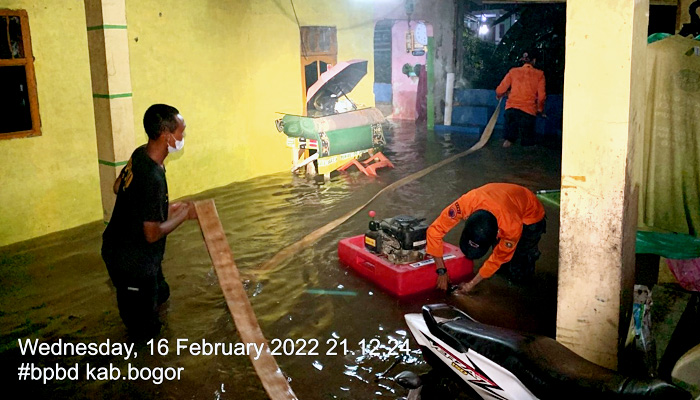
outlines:
{"label": "man in black t-shirt and white face mask standing in floodwater", "polygon": [[154,104],[143,126],[148,143],[134,150],[114,183],[117,202],[102,235],[102,258],[129,333],[152,337],[161,327],[157,308],[170,296],[161,268],[165,237],[197,212],[189,202],[168,203],[163,165],[185,144],[185,120],[176,108]]}

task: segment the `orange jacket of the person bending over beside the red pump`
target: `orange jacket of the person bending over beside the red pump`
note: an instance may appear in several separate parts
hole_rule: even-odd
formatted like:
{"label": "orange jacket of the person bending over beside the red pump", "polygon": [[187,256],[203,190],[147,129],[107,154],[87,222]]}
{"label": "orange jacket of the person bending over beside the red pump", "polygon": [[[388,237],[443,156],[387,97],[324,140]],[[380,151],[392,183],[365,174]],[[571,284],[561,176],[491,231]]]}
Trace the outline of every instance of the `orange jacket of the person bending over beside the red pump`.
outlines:
{"label": "orange jacket of the person bending over beside the red pump", "polygon": [[513,258],[523,225],[531,225],[544,218],[544,207],[534,193],[520,185],[489,183],[470,190],[442,210],[428,227],[426,252],[433,257],[442,257],[442,238],[477,210],[490,212],[498,221],[498,243],[479,270],[482,278],[489,278],[502,264]]}

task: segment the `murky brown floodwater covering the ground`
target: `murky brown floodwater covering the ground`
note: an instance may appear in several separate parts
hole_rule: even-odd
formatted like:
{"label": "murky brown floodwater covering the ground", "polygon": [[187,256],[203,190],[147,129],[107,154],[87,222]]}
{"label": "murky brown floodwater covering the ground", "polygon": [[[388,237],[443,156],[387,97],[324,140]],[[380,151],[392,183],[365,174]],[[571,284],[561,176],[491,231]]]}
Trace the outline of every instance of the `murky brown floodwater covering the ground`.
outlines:
{"label": "murky brown floodwater covering the ground", "polygon": [[[318,341],[319,355],[276,357],[300,399],[406,396],[405,389],[378,375],[389,369],[385,376],[411,370],[430,377],[430,367],[403,319],[405,313],[420,312],[423,304],[446,302],[484,323],[554,335],[559,210],[547,204],[547,233],[540,243],[543,255],[535,279],[528,283],[515,285],[494,276],[470,296],[429,292],[397,299],[355,275],[337,258],[338,240],[367,229],[368,210],[375,210],[378,218],[407,214],[432,221],[451,201],[488,182],[518,183],[532,190],[559,187],[561,162],[556,146],[503,149],[495,136],[484,149],[385,193],[311,247],[263,273],[258,267],[283,247],[363,204],[388,184],[466,150],[478,138],[456,134],[450,138],[413,123],[396,124],[387,133],[384,152],[396,168],[379,170],[378,178],[353,169],[318,183],[279,173],[188,198],[215,199],[266,338],[282,343],[291,339],[297,350],[305,340],[305,351],[313,339]],[[186,154],[175,162],[186,163]],[[5,390],[28,398],[266,399],[248,357],[177,354],[178,340],[181,344],[240,342],[194,221],[168,238],[163,271],[171,297],[163,315],[165,326],[153,346],[137,344],[137,357],[128,360],[115,355],[21,353],[18,339],[49,344],[127,341],[100,258],[103,229],[96,222],[0,249],[0,371],[5,385],[9,383]],[[460,232],[461,226],[446,240],[456,243]],[[409,339],[408,351],[399,357],[363,354],[360,347],[363,340],[367,345],[375,340],[388,351],[395,341],[405,339]],[[334,341],[339,344],[336,355],[326,354]],[[46,384],[20,382],[18,368],[23,363],[54,369],[77,365],[78,376]],[[88,379],[88,365],[118,369],[122,377],[130,367],[148,368],[151,378]],[[158,371],[165,372],[160,383]]]}

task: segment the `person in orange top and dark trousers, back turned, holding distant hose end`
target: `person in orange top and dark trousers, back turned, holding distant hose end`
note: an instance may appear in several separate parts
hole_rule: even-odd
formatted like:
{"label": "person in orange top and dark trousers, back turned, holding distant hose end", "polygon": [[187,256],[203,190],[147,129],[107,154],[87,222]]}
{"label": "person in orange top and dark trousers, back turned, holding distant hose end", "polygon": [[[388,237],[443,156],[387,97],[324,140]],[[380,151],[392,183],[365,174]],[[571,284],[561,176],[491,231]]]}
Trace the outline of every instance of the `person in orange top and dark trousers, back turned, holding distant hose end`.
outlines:
{"label": "person in orange top and dark trousers, back turned, holding distant hose end", "polygon": [[496,88],[496,98],[508,96],[506,100],[506,126],[503,147],[510,147],[518,137],[523,146],[535,143],[535,119],[544,115],[544,72],[535,68],[534,52],[523,53],[522,67],[512,68]]}

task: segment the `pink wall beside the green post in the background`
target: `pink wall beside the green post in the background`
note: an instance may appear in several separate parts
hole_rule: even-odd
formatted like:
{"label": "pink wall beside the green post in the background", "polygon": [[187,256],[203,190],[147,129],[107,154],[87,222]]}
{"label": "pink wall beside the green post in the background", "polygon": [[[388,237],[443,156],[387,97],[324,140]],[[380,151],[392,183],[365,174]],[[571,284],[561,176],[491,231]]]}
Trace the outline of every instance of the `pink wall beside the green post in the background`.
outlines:
{"label": "pink wall beside the green post in the background", "polygon": [[[415,29],[416,22],[411,21],[411,29]],[[430,24],[426,24],[428,36],[433,35]],[[414,56],[406,52],[406,33],[408,32],[408,21],[396,21],[391,29],[392,36],[392,60],[391,60],[391,86],[393,95],[394,119],[416,119],[416,92],[418,91],[418,80],[415,82],[402,72],[403,65],[425,65],[426,56]]]}

